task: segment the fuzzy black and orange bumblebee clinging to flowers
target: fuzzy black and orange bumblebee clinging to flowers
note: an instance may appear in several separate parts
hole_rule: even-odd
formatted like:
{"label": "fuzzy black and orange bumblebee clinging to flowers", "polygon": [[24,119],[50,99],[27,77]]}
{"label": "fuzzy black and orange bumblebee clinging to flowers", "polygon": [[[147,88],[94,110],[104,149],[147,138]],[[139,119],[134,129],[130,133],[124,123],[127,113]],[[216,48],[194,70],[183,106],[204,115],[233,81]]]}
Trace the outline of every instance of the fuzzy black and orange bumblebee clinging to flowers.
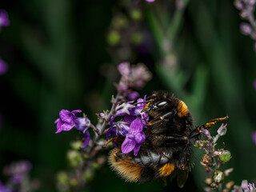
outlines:
{"label": "fuzzy black and orange bumblebee clinging to flowers", "polygon": [[199,128],[209,129],[216,118],[195,128],[190,110],[173,94],[154,92],[142,110],[149,114],[145,142],[137,156],[122,154],[120,148],[110,151],[112,169],[127,182],[150,182],[157,178],[177,178],[179,187],[184,186],[193,165],[191,147],[200,133]]}

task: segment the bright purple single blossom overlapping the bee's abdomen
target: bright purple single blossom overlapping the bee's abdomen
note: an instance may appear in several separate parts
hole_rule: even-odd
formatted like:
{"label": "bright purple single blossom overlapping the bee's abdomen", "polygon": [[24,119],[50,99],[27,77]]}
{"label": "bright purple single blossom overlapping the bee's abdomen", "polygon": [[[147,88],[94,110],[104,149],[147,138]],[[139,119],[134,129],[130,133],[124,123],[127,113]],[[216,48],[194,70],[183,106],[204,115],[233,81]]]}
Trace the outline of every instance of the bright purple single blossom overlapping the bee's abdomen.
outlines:
{"label": "bright purple single blossom overlapping the bee's abdomen", "polygon": [[122,153],[128,154],[134,150],[134,155],[137,156],[139,149],[142,146],[142,142],[145,142],[146,136],[142,132],[143,123],[141,119],[135,119],[130,123],[130,129],[124,142],[122,142]]}

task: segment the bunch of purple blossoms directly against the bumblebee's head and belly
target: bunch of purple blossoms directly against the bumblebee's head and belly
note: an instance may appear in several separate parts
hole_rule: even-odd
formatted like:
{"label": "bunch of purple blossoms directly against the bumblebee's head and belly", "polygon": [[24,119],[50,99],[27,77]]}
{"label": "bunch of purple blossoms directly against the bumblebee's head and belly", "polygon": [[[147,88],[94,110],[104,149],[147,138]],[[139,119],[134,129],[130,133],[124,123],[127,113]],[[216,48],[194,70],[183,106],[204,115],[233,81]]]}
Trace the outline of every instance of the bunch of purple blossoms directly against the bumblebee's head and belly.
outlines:
{"label": "bunch of purple blossoms directly against the bumblebee's head and belly", "polygon": [[[125,137],[124,142],[122,142],[122,153],[128,154],[134,150],[135,156],[137,156],[142,142],[146,139],[142,130],[146,128],[146,123],[149,120],[149,115],[142,111],[146,106],[146,95],[144,98],[138,98],[137,103],[136,106],[131,105],[130,102],[123,103],[122,109],[117,110],[116,114],[111,117],[111,127],[106,133],[107,139],[110,134],[112,138],[118,135]],[[124,116],[123,120],[114,122],[114,118],[118,116]]]}

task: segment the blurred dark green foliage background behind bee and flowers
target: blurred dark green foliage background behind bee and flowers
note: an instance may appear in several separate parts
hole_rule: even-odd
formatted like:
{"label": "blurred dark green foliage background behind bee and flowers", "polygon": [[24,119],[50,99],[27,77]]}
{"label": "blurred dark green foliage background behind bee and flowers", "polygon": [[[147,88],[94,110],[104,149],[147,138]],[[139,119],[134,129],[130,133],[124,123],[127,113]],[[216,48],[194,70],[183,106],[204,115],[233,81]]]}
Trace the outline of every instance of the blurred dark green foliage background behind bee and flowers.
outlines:
{"label": "blurred dark green foliage background behind bee and flowers", "polygon": [[[109,109],[116,93],[116,66],[128,61],[144,62],[153,73],[141,95],[173,92],[189,106],[195,125],[228,114],[227,134],[219,142],[219,147],[225,142],[233,157],[226,165],[234,167],[227,181],[254,181],[254,42],[240,33],[242,21],[233,3],[1,2],[10,26],[0,33],[0,57],[9,65],[0,76],[0,170],[10,162],[30,160],[30,176],[41,182],[38,191],[57,191],[54,175],[68,169],[66,150],[80,136],[75,131],[54,134],[59,110],[81,109],[96,122],[94,114]],[[195,150],[194,169],[180,191],[202,190],[200,160]],[[83,191],[171,189],[178,190],[162,181],[125,183],[106,165]]]}

